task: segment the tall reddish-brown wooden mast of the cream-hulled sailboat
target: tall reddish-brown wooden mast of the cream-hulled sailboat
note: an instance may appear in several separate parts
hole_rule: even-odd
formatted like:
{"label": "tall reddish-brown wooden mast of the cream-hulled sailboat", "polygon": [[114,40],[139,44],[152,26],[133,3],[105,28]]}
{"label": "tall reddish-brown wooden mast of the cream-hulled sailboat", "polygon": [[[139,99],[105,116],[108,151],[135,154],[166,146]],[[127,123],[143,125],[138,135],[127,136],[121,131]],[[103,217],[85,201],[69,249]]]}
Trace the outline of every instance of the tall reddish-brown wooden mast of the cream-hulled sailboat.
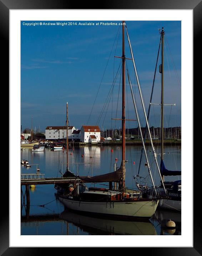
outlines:
{"label": "tall reddish-brown wooden mast of the cream-hulled sailboat", "polygon": [[126,122],[126,114],[125,114],[125,39],[124,39],[124,22],[122,21],[122,162],[121,166],[123,169],[123,188],[125,187],[125,122]]}

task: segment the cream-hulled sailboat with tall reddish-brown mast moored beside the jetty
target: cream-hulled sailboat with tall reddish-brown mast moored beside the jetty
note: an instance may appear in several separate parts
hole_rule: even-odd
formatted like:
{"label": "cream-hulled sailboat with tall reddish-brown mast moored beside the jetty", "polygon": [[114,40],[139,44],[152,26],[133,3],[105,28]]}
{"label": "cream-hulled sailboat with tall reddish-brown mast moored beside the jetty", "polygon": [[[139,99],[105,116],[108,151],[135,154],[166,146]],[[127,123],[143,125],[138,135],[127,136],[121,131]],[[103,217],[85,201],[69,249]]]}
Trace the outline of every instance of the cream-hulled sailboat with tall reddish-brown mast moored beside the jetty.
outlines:
{"label": "cream-hulled sailboat with tall reddish-brown mast moored beside the jetty", "polygon": [[[158,199],[143,198],[140,191],[129,190],[125,184],[125,21],[122,22],[122,161],[114,172],[98,176],[79,176],[81,182],[109,182],[109,188],[87,188],[80,192],[79,183],[73,189],[59,195],[59,200],[69,209],[102,216],[126,218],[150,218],[156,211]],[[112,183],[114,182],[114,187]],[[114,189],[113,189],[114,188]],[[115,189],[116,188],[116,189]]]}

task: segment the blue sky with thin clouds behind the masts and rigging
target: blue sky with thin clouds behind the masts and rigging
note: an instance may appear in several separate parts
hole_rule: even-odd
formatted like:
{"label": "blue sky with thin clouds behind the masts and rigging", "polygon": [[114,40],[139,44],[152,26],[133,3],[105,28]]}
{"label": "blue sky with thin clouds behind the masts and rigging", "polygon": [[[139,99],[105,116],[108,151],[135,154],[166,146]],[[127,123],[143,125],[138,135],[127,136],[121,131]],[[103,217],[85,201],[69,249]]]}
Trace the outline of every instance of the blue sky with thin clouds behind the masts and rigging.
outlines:
{"label": "blue sky with thin clouds behind the masts and rigging", "polygon": [[[113,77],[115,77],[120,64],[120,59],[114,58],[114,55],[122,55],[121,33],[118,37],[119,26],[23,25],[23,23],[31,22],[40,23],[40,21],[21,21],[22,129],[31,128],[32,116],[33,128],[36,127],[36,129],[39,129],[40,126],[40,129],[45,131],[46,126],[49,125],[65,125],[66,102],[68,102],[70,125],[74,125],[78,129],[83,124],[97,124],[100,127],[103,125],[107,129],[111,128],[111,126],[119,128],[121,123],[116,122],[115,127],[115,122],[111,122],[111,117],[116,117],[117,105],[119,107],[117,118],[121,118],[121,95],[118,97],[119,73],[113,89],[113,104],[111,97],[107,113],[104,112],[100,122],[98,122],[101,109],[111,88]],[[44,21],[41,22],[43,23]],[[54,21],[50,22],[54,23]],[[75,22],[79,23],[79,21]],[[91,22],[96,24],[100,21]],[[119,21],[115,22],[119,23]],[[165,127],[180,126],[181,22],[126,21],[126,24],[147,108],[160,41],[158,29],[162,28],[162,26],[164,27],[166,35],[164,62],[165,104],[176,103],[176,106],[172,107],[172,109],[171,106],[165,107]],[[113,44],[114,47],[112,48]],[[127,40],[125,40],[125,45],[126,58],[131,58]],[[127,65],[134,90],[137,93],[137,82],[134,80],[132,62],[127,60]],[[105,75],[103,76],[104,71]],[[157,70],[153,103],[160,103],[160,82],[161,77]],[[99,86],[100,90],[89,119]],[[126,115],[129,114],[129,118],[136,119],[128,82],[126,91],[128,92],[128,95],[126,95]],[[143,120],[138,93],[136,94],[136,99],[142,125],[144,126],[145,121]],[[150,124],[155,127],[160,125],[160,106],[152,105]],[[137,127],[137,122],[127,123],[126,127]]]}

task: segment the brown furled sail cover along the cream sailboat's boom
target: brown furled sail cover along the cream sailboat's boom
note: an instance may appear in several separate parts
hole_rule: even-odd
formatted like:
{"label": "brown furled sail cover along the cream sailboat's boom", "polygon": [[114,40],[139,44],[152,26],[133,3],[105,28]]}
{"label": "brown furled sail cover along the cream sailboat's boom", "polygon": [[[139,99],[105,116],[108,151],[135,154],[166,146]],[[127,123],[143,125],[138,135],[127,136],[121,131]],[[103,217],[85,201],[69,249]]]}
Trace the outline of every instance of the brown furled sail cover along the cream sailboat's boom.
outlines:
{"label": "brown furled sail cover along the cream sailboat's boom", "polygon": [[123,173],[122,168],[119,168],[115,172],[110,172],[110,173],[97,175],[93,177],[79,176],[79,178],[84,182],[110,182],[110,181],[118,182],[122,178],[122,173]]}

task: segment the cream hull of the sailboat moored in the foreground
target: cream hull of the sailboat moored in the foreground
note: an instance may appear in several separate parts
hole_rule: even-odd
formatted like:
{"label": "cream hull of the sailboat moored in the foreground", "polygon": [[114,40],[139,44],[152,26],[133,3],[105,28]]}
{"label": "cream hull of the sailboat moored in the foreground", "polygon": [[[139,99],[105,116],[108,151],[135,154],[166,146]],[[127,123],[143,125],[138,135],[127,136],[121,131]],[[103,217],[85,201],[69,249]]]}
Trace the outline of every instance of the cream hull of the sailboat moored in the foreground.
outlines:
{"label": "cream hull of the sailboat moored in the foreground", "polygon": [[63,196],[59,196],[59,200],[70,210],[114,217],[150,218],[155,213],[158,205],[158,200],[89,202],[77,201]]}

